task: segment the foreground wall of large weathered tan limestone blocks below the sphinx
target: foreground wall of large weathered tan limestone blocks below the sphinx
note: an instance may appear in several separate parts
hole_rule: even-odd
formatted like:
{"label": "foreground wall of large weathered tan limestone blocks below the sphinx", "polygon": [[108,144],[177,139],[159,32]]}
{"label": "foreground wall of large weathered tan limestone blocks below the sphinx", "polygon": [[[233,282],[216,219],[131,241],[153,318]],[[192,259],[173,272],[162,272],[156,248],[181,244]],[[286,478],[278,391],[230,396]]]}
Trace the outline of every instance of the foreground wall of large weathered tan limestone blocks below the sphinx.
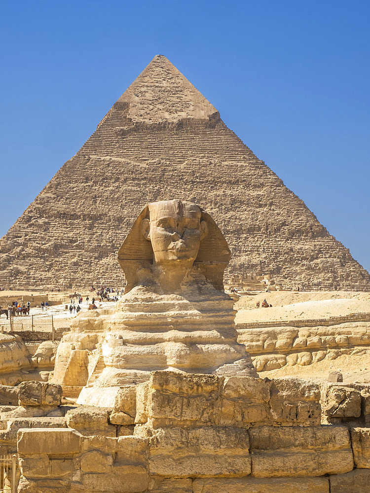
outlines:
{"label": "foreground wall of large weathered tan limestone blocks below the sphinx", "polygon": [[320,424],[329,387],[153,372],[122,387],[107,413],[130,435],[76,431],[89,421],[78,408],[70,428],[20,428],[18,492],[368,492],[370,428],[360,421],[370,408]]}

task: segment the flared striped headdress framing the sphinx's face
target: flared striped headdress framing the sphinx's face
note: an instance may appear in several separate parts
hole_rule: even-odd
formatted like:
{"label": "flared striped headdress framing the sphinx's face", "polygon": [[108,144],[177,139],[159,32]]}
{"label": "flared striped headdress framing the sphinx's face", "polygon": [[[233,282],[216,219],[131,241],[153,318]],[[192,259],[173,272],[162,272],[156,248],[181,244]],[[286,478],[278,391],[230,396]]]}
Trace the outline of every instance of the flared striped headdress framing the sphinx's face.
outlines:
{"label": "flared striped headdress framing the sphinx's face", "polygon": [[[183,212],[184,206],[191,213],[197,208],[200,211],[200,220],[206,221],[208,234],[200,242],[194,268],[211,282],[216,289],[223,290],[223,271],[230,260],[230,249],[220,228],[212,217],[192,202],[179,200],[161,201],[165,209]],[[152,203],[153,205],[155,204]],[[125,293],[134,286],[140,285],[150,278],[150,266],[153,263],[153,249],[151,243],[142,234],[142,222],[150,219],[151,204],[145,206],[135,220],[131,230],[118,250],[118,262],[126,277]],[[153,219],[153,218],[152,218]]]}

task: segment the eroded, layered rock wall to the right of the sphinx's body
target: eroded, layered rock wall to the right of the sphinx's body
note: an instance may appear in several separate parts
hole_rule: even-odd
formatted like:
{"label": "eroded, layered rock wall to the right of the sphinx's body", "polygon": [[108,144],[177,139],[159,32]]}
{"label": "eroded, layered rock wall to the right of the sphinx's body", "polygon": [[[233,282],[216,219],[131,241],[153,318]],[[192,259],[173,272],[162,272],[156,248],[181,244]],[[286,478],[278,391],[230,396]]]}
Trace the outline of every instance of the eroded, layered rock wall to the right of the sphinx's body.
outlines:
{"label": "eroded, layered rock wall to the right of the sphinx's body", "polygon": [[258,372],[370,351],[370,314],[236,324]]}

